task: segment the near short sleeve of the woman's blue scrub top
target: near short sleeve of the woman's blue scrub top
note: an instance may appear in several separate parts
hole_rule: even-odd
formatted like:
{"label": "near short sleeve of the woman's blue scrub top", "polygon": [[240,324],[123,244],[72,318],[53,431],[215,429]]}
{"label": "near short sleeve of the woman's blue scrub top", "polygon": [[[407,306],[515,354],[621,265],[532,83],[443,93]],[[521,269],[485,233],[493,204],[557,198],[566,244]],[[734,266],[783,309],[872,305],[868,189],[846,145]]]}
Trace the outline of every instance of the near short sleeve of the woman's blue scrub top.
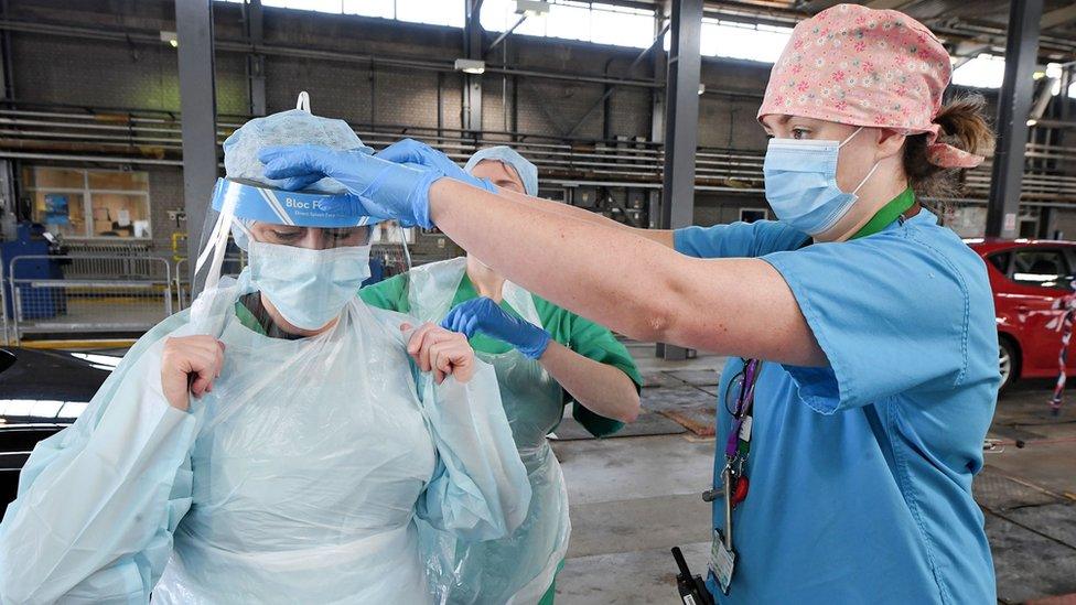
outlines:
{"label": "near short sleeve of the woman's blue scrub top", "polygon": [[788,284],[829,361],[785,366],[805,403],[828,414],[960,383],[969,294],[966,271],[947,253],[894,229],[763,257]]}

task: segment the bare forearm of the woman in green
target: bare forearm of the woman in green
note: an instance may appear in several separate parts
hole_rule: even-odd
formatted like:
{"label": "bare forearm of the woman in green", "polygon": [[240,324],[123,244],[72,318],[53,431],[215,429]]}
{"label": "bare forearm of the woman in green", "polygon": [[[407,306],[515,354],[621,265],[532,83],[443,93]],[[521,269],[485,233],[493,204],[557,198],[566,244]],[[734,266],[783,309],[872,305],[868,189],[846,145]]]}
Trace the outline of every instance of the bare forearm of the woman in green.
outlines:
{"label": "bare forearm of the woman in green", "polygon": [[557,342],[549,343],[538,361],[588,410],[621,422],[635,422],[638,418],[635,382],[618,368],[584,357]]}

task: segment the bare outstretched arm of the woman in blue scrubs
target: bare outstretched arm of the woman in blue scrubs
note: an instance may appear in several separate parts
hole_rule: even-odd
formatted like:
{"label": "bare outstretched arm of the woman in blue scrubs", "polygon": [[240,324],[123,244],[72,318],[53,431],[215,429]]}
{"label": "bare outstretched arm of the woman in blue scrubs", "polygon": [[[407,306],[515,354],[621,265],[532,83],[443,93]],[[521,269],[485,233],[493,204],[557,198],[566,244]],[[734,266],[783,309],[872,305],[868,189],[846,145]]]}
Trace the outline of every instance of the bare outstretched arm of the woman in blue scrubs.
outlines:
{"label": "bare outstretched arm of the woman in blue scrubs", "polygon": [[760,259],[695,259],[638,237],[441,179],[430,216],[527,290],[632,338],[825,364],[784,278]]}

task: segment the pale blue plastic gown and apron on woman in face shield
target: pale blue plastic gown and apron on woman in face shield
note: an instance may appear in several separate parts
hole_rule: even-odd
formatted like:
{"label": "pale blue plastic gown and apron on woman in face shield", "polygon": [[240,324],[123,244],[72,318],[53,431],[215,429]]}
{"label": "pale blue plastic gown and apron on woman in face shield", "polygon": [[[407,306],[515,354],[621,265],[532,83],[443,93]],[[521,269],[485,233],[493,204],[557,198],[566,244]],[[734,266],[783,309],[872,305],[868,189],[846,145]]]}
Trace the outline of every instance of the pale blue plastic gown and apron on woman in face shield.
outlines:
{"label": "pale blue plastic gown and apron on woman in face shield", "polygon": [[[422,603],[416,518],[507,534],[530,488],[493,368],[416,383],[404,315],[355,299],[326,333],[239,323],[246,273],[131,349],[78,421],[35,447],[0,523],[0,602]],[[206,328],[206,326],[213,326]],[[166,336],[217,333],[191,412],[161,390]]]}

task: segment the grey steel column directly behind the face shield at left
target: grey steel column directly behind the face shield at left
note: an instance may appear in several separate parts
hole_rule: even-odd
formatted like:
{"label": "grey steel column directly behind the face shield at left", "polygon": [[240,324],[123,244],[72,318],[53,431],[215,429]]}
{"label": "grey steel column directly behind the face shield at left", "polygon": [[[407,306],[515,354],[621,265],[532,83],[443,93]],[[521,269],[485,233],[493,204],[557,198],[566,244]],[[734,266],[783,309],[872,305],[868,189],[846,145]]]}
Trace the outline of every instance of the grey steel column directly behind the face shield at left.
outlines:
{"label": "grey steel column directly behind the face shield at left", "polygon": [[175,3],[180,111],[183,116],[183,199],[186,209],[191,292],[205,209],[217,177],[216,90],[213,72],[213,0]]}

